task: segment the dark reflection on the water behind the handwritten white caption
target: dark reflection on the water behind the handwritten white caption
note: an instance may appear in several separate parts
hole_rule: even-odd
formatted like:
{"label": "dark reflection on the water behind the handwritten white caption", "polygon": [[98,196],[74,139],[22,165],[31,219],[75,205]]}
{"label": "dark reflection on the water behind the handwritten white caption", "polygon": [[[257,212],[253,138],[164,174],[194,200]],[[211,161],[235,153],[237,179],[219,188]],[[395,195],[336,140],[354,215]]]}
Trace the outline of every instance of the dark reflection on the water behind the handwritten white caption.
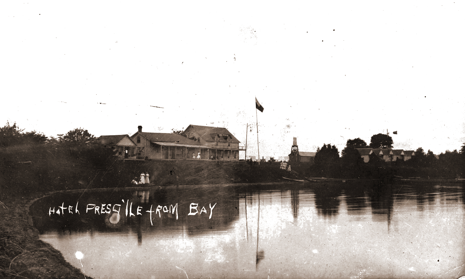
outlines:
{"label": "dark reflection on the water behind the handwritten white caption", "polygon": [[[141,244],[142,232],[169,230],[196,235],[224,231],[239,218],[238,203],[239,197],[233,188],[124,189],[110,193],[57,194],[40,199],[31,213],[40,234],[136,232]],[[68,205],[73,205],[72,210]],[[73,212],[76,208],[79,213]]]}

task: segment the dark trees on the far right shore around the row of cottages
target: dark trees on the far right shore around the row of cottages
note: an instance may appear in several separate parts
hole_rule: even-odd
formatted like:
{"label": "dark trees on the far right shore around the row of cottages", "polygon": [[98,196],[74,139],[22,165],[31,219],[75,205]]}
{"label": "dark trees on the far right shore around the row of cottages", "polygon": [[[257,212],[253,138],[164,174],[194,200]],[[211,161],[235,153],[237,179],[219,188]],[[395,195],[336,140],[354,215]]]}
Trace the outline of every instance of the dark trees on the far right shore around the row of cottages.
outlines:
{"label": "dark trees on the far right shore around the row of cottages", "polygon": [[309,175],[328,178],[379,179],[384,177],[422,177],[456,179],[465,176],[465,142],[459,151],[446,150],[436,158],[431,150],[415,150],[412,159],[398,158],[385,162],[374,153],[365,163],[357,148],[392,148],[393,140],[386,134],[376,134],[370,144],[360,138],[347,140],[339,156],[338,148],[331,144],[318,147]]}

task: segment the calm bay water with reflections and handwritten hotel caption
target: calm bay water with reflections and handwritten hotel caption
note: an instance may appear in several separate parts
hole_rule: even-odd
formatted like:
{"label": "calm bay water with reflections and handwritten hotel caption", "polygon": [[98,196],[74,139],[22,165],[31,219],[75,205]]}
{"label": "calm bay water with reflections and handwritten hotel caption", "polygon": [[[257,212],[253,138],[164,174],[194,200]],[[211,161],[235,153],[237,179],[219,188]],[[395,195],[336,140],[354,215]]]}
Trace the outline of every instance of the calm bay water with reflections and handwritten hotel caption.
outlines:
{"label": "calm bay water with reflections and handwritten hotel caption", "polygon": [[31,214],[96,279],[458,278],[464,204],[459,183],[351,182],[57,194]]}

